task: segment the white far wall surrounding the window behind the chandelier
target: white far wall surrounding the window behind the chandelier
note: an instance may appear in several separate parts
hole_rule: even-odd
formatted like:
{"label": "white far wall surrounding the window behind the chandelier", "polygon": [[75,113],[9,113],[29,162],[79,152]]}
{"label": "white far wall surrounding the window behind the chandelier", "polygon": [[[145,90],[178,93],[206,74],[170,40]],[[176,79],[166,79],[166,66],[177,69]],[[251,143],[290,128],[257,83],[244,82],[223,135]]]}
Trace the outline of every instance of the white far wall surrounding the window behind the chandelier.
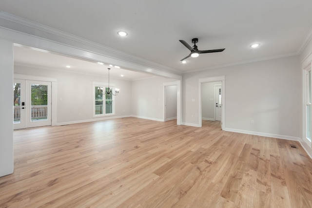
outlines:
{"label": "white far wall surrounding the window behind the chandelier", "polygon": [[24,66],[15,66],[14,73],[44,76],[56,78],[58,80],[56,100],[56,102],[58,102],[58,124],[77,123],[131,115],[131,81],[110,77],[110,83],[116,84],[120,89],[119,95],[116,96],[116,114],[115,116],[93,118],[93,81],[105,83],[107,82],[108,77],[74,74],[58,70],[45,70]]}

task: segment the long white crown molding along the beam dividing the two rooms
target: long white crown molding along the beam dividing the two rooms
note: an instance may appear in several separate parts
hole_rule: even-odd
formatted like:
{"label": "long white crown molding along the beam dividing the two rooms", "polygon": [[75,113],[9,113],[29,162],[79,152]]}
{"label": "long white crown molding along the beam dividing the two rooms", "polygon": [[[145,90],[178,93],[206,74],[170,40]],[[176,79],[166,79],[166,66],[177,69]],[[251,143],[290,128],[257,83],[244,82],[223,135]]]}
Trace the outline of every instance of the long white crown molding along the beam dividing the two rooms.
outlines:
{"label": "long white crown molding along the beam dividing the two rooms", "polygon": [[[59,37],[61,37],[61,38],[65,38],[65,39],[68,39],[68,40],[71,40],[74,42],[78,42],[78,43],[83,44],[83,45],[91,46],[91,47],[99,50],[99,52],[92,51],[93,53],[97,53],[97,54],[100,54],[100,55],[103,55],[106,57],[111,57],[111,58],[115,58],[115,59],[123,60],[123,61],[127,61],[127,62],[132,62],[132,63],[138,62],[140,65],[149,66],[149,67],[152,66],[150,68],[154,68],[157,71],[171,73],[174,75],[181,75],[182,74],[180,71],[178,71],[176,69],[158,64],[158,63],[150,61],[150,60],[146,60],[146,59],[143,59],[140,57],[136,57],[136,56],[133,56],[131,54],[124,53],[122,51],[118,51],[116,49],[98,44],[96,42],[93,42],[93,41],[90,41],[90,40],[87,40],[84,38],[80,38],[78,36],[75,36],[75,35],[72,35],[69,33],[65,33],[63,31],[60,31],[60,30],[39,24],[39,23],[34,22],[34,21],[23,19],[23,18],[14,16],[14,15],[11,15],[9,13],[5,13],[5,12],[0,11],[0,19],[5,19],[5,20],[11,21],[11,22],[18,23],[18,24],[20,24],[20,25],[22,25],[28,29],[27,32],[25,32],[24,31],[25,29],[16,30],[16,28],[15,29],[8,28],[8,29],[11,29],[11,30],[14,30],[17,32],[21,32],[21,33],[25,33],[25,34],[37,37],[37,34],[35,35],[35,34],[30,33],[29,29],[32,28],[33,30],[39,30],[39,31],[42,31],[46,34],[50,34],[50,35],[52,34],[53,36],[56,36],[58,38],[58,40],[59,40]],[[4,26],[4,28],[6,28],[6,27]],[[39,38],[50,39],[50,38],[46,38],[46,37],[39,37]],[[56,40],[53,40],[53,41],[56,41]],[[114,63],[109,63],[109,64],[114,64]]]}

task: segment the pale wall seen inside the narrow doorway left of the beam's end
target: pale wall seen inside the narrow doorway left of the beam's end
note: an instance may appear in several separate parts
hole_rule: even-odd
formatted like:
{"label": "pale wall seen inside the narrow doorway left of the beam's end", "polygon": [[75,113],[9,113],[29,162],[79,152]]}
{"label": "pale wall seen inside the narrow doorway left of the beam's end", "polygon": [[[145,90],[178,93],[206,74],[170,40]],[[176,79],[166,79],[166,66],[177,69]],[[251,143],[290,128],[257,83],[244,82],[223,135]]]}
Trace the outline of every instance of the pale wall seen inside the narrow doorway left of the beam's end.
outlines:
{"label": "pale wall seen inside the narrow doorway left of the beam's end", "polygon": [[165,86],[165,120],[172,120],[176,118],[176,85]]}

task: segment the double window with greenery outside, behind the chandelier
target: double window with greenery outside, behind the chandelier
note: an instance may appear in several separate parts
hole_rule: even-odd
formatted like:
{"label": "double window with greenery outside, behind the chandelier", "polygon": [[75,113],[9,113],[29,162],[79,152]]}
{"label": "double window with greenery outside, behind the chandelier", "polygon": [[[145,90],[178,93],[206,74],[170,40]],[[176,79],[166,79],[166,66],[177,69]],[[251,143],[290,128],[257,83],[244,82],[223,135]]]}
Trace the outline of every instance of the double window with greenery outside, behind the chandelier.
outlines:
{"label": "double window with greenery outside, behind the chandelier", "polygon": [[[111,86],[111,85],[110,85]],[[110,87],[112,89],[112,87]],[[93,114],[94,116],[115,114],[115,100],[112,94],[103,95],[102,92],[108,91],[104,84],[94,83],[93,85]],[[105,89],[105,91],[104,91]],[[113,90],[113,89],[112,89]]]}

